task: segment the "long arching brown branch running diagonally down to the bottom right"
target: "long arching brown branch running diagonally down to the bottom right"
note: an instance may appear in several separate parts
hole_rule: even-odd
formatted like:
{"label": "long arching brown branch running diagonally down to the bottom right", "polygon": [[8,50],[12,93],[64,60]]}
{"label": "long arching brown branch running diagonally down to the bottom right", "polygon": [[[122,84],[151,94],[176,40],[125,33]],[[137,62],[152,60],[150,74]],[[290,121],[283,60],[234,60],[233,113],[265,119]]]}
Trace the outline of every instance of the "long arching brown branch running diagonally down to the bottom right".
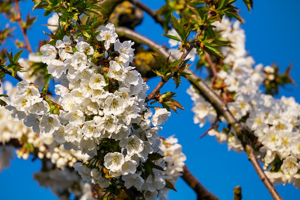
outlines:
{"label": "long arching brown branch running diagonally down to the bottom right", "polygon": [[[132,40],[137,39],[138,43],[147,45],[150,49],[157,52],[159,55],[164,56],[164,58],[167,58],[169,56],[169,53],[165,50],[163,46],[160,44],[157,44],[156,42],[152,41],[151,39],[136,33],[130,29],[116,28],[116,32],[120,35],[124,35],[127,38],[131,38]],[[192,44],[191,44],[192,45]],[[175,59],[170,57],[170,61],[173,62]],[[244,150],[248,156],[249,161],[253,165],[256,173],[258,174],[260,180],[264,183],[265,187],[270,192],[271,196],[275,200],[282,200],[280,195],[278,194],[277,190],[274,188],[273,184],[270,182],[268,177],[263,172],[258,160],[256,159],[254,155],[254,149],[250,145],[250,141],[253,143],[256,143],[256,137],[251,134],[245,127],[243,127],[232,115],[232,113],[229,111],[229,109],[226,106],[226,103],[223,102],[223,100],[215,93],[213,92],[202,80],[200,77],[196,76],[192,70],[186,69],[184,72],[189,73],[190,75],[186,76],[186,79],[195,86],[199,93],[205,98],[206,101],[210,102],[211,105],[219,112],[221,113],[227,120],[229,124],[232,125],[232,127],[235,129],[235,132],[241,140]],[[160,84],[160,83],[159,83]],[[158,86],[157,86],[158,87]]]}

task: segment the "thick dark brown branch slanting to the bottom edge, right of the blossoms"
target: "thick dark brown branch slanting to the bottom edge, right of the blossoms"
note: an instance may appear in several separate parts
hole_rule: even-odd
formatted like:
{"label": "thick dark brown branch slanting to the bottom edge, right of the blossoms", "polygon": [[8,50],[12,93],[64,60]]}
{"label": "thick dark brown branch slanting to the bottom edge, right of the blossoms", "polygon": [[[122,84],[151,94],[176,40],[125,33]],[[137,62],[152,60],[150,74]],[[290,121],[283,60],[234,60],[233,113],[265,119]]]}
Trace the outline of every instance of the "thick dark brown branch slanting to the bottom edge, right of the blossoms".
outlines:
{"label": "thick dark brown branch slanting to the bottom edge, right of the blossoms", "polygon": [[182,179],[196,192],[197,200],[218,200],[218,198],[209,192],[200,182],[197,180],[193,174],[187,169],[187,166],[184,165]]}

